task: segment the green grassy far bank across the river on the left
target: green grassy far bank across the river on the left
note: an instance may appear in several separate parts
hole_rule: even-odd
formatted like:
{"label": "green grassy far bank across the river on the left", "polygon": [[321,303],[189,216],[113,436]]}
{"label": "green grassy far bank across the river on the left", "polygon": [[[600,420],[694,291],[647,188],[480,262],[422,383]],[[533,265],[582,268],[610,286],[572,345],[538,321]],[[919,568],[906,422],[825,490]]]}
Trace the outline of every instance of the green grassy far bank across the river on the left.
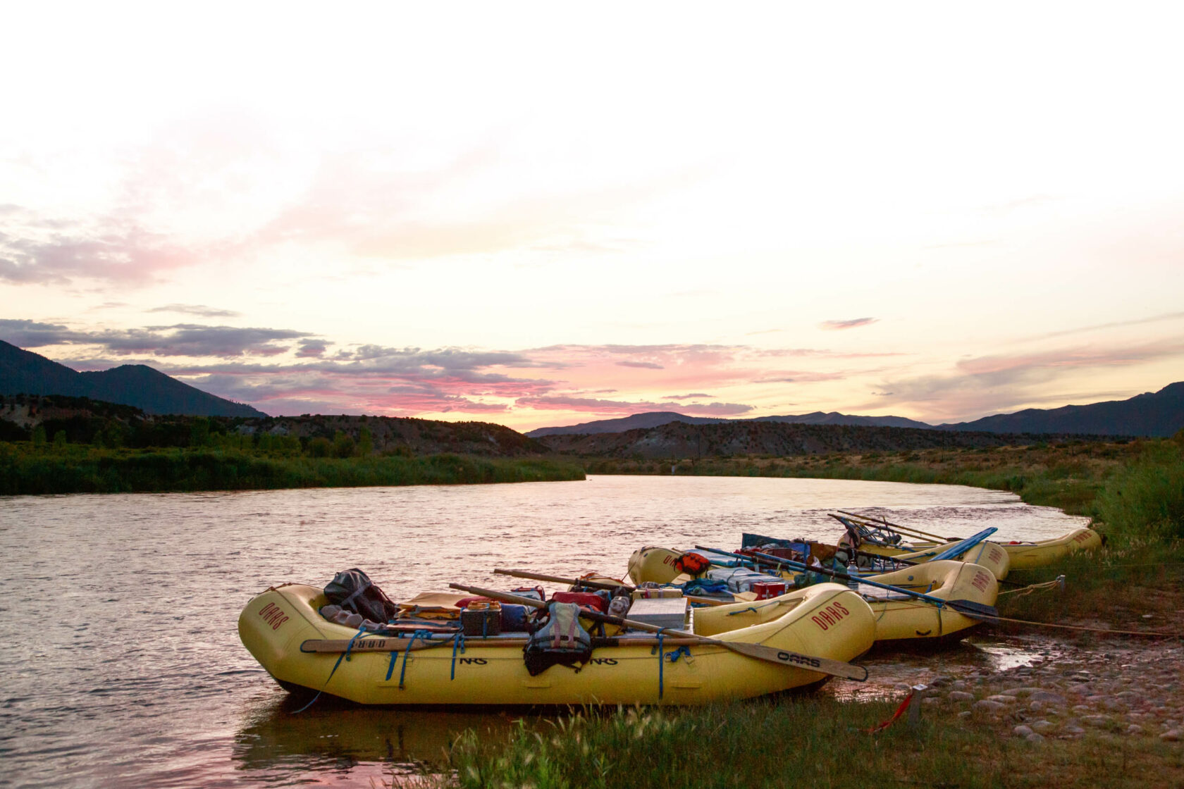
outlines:
{"label": "green grassy far bank across the river on the left", "polygon": [[130,493],[584,479],[570,463],[458,454],[279,458],[237,450],[0,444],[0,494]]}

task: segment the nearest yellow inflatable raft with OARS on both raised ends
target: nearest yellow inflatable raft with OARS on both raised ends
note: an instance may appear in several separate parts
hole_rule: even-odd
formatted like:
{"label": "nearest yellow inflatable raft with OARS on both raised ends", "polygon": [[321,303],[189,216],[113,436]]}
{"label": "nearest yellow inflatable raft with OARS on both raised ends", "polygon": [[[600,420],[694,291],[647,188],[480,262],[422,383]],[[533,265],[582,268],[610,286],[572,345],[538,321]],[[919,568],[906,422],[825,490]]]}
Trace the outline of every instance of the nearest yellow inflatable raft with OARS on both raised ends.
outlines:
{"label": "nearest yellow inflatable raft with OARS on both raised ends", "polygon": [[[316,641],[356,635],[317,613],[326,602],[315,587],[285,584],[256,596],[239,615],[243,644],[285,690],[323,691],[359,704],[683,705],[777,693],[828,679],[674,634],[663,639],[663,655],[656,652],[655,636],[620,635],[603,646],[593,642],[591,661],[578,672],[552,666],[536,677],[530,677],[523,662],[526,634],[465,638],[463,647],[449,636],[427,648],[423,640],[412,646],[411,638],[367,635],[354,641],[359,652],[339,662],[340,654],[307,651]],[[696,610],[691,627],[706,628],[725,641],[842,661],[863,654],[873,644],[871,608],[839,584],[790,593],[778,601],[776,612],[760,617],[728,616],[749,606],[720,606],[709,614]]]}

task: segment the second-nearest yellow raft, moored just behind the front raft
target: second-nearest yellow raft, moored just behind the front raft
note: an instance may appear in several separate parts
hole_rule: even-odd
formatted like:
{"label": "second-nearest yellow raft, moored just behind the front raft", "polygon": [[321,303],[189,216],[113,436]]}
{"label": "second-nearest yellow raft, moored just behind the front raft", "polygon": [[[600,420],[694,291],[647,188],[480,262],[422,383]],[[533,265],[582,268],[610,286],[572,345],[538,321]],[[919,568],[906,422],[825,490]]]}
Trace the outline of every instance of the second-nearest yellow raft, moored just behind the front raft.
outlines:
{"label": "second-nearest yellow raft, moored just behind the front raft", "polygon": [[[667,548],[638,549],[629,558],[629,577],[637,584],[646,581],[670,583],[681,575],[674,563],[682,554]],[[785,573],[783,577],[790,578],[793,575]],[[689,580],[689,576],[682,577]],[[867,580],[918,591],[942,601],[995,606],[999,596],[999,583],[990,570],[979,564],[953,560],[926,562],[894,573],[869,575]],[[893,594],[867,584],[861,588],[861,593],[866,593],[862,596],[871,607],[876,620],[875,640],[881,646],[901,646],[906,641],[914,645],[958,641],[970,635],[972,628],[982,625],[980,619],[908,595]],[[767,601],[753,601],[746,604],[760,607],[764,603]],[[697,609],[696,621],[704,616],[703,610],[710,609]],[[758,610],[764,609],[758,608]],[[735,617],[741,619],[741,615]],[[748,617],[744,619],[748,621]]]}

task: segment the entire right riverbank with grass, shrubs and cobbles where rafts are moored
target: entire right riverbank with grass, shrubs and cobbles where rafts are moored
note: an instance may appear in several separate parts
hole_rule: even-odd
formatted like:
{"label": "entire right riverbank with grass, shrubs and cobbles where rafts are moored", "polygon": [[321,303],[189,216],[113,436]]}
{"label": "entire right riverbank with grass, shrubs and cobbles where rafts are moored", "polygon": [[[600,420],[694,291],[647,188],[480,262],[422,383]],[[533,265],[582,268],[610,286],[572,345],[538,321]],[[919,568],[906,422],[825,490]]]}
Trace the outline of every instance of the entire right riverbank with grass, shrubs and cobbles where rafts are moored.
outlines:
{"label": "entire right riverbank with grass, shrubs and cobbles where rafts are moored", "polygon": [[[1000,595],[1000,615],[1022,621],[989,632],[1036,634],[1044,645],[1005,671],[925,668],[893,699],[799,697],[581,714],[556,722],[546,737],[522,730],[503,743],[463,738],[412,781],[463,788],[1184,785],[1180,448],[1178,440],[1113,454],[1098,446],[1006,448],[978,467],[966,463],[978,451],[690,464],[684,473],[744,467],[745,476],[1014,490],[1032,504],[1105,516],[1099,525],[1112,541],[1094,554],[1012,573],[1009,581],[1021,584],[1062,575],[1066,583],[1030,594],[1009,587]],[[913,701],[920,719],[873,733],[918,684],[926,686]],[[391,783],[410,785],[406,778]]]}

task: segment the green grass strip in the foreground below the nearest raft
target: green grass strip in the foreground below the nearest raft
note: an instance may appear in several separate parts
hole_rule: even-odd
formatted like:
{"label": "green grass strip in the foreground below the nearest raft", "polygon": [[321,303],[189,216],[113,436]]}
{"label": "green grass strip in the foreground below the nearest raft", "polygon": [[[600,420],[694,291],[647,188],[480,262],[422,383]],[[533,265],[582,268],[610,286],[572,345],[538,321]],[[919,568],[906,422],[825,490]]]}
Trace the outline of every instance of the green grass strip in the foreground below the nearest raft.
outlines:
{"label": "green grass strip in the foreground below the nearest raft", "polygon": [[[1184,777],[1171,744],[1094,736],[1032,744],[948,712],[893,701],[787,697],[686,710],[614,710],[521,726],[509,742],[462,737],[446,761],[394,785],[496,789],[704,787],[1143,787]],[[1167,781],[1167,783],[1164,783]]]}

